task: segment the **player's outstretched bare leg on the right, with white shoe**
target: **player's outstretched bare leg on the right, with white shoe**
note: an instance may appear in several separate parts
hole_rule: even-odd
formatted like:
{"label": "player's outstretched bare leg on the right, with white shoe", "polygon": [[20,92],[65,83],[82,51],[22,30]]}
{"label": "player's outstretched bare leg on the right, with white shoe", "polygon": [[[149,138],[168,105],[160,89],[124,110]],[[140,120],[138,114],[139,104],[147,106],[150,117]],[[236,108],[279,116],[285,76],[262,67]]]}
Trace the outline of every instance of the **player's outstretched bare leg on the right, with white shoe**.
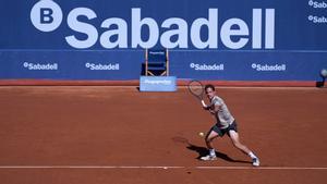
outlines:
{"label": "player's outstretched bare leg on the right, with white shoe", "polygon": [[230,139],[232,140],[232,144],[234,145],[234,147],[237,147],[242,152],[244,152],[247,156],[250,156],[251,159],[252,159],[252,164],[254,167],[258,167],[259,165],[259,159],[245,145],[243,145],[240,142],[239,133],[237,131],[234,131],[234,130],[230,130],[229,131],[229,136],[230,136]]}

